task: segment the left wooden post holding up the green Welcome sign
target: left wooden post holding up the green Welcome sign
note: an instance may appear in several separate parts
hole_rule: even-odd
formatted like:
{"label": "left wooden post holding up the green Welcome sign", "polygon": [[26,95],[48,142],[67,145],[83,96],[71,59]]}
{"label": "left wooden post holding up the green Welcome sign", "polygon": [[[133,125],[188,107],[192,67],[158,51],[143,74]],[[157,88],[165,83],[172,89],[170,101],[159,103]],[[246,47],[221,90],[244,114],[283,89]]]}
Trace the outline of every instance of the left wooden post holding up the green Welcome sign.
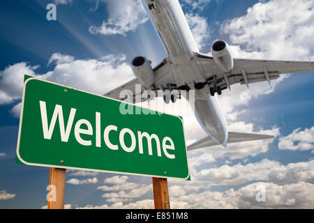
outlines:
{"label": "left wooden post holding up the green Welcome sign", "polygon": [[50,168],[50,192],[52,196],[48,199],[48,209],[63,209],[64,187],[66,186],[66,169]]}

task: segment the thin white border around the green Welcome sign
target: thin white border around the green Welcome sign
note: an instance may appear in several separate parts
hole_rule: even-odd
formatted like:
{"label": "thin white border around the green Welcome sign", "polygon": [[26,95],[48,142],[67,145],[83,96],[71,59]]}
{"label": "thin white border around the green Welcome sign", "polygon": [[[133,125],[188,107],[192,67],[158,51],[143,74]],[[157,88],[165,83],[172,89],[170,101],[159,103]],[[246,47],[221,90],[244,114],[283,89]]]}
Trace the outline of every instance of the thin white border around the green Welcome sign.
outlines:
{"label": "thin white border around the green Welcome sign", "polygon": [[[30,166],[36,166],[36,167],[54,167],[54,168],[62,168],[62,169],[77,169],[77,170],[84,170],[84,171],[97,171],[97,172],[110,173],[110,174],[130,174],[130,175],[136,175],[136,176],[150,176],[150,177],[157,177],[157,178],[177,179],[177,180],[188,180],[188,178],[190,178],[190,169],[189,169],[189,166],[188,166],[188,151],[187,151],[187,148],[186,148],[186,164],[188,166],[188,176],[186,178],[156,176],[156,175],[151,175],[151,174],[135,174],[135,173],[128,173],[128,172],[107,171],[107,170],[102,170],[102,169],[89,169],[89,168],[81,168],[81,167],[67,167],[67,166],[63,166],[63,165],[38,164],[38,163],[27,162],[27,161],[23,160],[22,157],[20,156],[19,151],[20,151],[20,134],[21,134],[21,129],[22,129],[22,118],[23,118],[23,112],[24,112],[24,96],[25,96],[25,89],[26,89],[27,83],[30,82],[33,79],[39,80],[40,82],[47,82],[47,83],[50,83],[50,84],[63,86],[66,89],[74,89],[76,91],[81,91],[81,92],[88,93],[88,94],[91,94],[91,95],[96,95],[96,96],[101,97],[101,98],[107,98],[107,99],[116,100],[117,102],[122,102],[122,103],[125,103],[125,104],[128,104],[128,105],[137,106],[137,105],[133,105],[133,104],[131,104],[129,102],[123,102],[121,100],[117,100],[117,99],[114,99],[114,98],[109,98],[109,97],[106,97],[104,95],[98,95],[96,93],[91,93],[91,92],[88,92],[88,91],[75,89],[73,87],[66,86],[66,85],[63,85],[63,84],[57,84],[57,83],[54,83],[54,82],[47,81],[45,79],[40,79],[40,78],[37,78],[37,77],[31,77],[29,75],[24,75],[24,77],[25,76],[29,77],[29,78],[27,78],[24,81],[24,86],[23,86],[23,95],[22,95],[22,102],[21,102],[22,105],[21,105],[21,112],[20,112],[19,133],[18,133],[18,136],[17,136],[17,148],[16,148],[17,158],[23,164],[27,164],[27,165],[30,165]],[[141,107],[141,106],[137,106],[137,107]],[[144,107],[141,107],[141,108],[144,108]],[[156,111],[156,112],[158,112],[158,111]],[[167,113],[163,112],[163,114],[167,114]],[[183,132],[184,132],[184,123],[183,123],[182,119],[179,116],[176,116],[176,115],[173,115],[173,114],[167,114],[167,115],[179,118],[179,120],[182,123],[182,129],[183,129]],[[185,136],[185,134],[184,134],[184,145],[186,147],[186,136]]]}

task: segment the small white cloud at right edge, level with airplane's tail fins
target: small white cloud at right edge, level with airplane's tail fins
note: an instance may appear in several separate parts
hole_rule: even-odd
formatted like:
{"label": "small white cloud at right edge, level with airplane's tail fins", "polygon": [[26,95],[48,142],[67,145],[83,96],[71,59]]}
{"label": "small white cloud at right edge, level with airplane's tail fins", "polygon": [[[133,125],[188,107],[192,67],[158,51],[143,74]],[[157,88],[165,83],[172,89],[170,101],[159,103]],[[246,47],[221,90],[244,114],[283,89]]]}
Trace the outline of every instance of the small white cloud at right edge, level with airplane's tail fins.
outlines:
{"label": "small white cloud at right edge, level with airplane's tail fins", "polygon": [[314,126],[311,129],[306,128],[304,131],[297,128],[286,137],[280,137],[278,148],[292,151],[312,150],[314,148]]}

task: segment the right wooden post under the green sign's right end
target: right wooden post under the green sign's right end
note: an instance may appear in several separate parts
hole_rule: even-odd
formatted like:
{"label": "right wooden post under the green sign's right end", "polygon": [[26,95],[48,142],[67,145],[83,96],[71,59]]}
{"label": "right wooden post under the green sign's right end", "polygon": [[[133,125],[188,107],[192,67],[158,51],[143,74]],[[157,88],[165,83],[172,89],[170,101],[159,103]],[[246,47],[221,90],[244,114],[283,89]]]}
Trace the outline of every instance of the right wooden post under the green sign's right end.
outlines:
{"label": "right wooden post under the green sign's right end", "polygon": [[153,177],[155,209],[170,209],[167,178]]}

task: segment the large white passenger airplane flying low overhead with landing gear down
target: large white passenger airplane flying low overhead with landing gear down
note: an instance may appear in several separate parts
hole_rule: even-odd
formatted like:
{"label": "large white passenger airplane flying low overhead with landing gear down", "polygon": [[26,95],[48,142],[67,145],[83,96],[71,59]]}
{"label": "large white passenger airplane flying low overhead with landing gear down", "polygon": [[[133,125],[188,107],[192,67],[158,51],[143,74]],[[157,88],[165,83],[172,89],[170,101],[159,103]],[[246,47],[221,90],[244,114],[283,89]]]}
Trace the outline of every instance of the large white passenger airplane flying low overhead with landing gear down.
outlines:
{"label": "large white passenger airplane flying low overhead with landing gear down", "polygon": [[[195,40],[178,0],[142,0],[158,32],[167,57],[156,67],[144,56],[133,59],[131,67],[135,79],[105,94],[119,98],[119,93],[128,89],[135,95],[135,84],[145,89],[190,91],[195,90],[194,113],[207,137],[188,146],[188,151],[197,148],[222,145],[240,141],[273,139],[274,136],[228,132],[227,121],[217,95],[232,84],[268,82],[281,74],[314,70],[314,62],[271,61],[260,59],[237,59],[230,53],[229,45],[216,40],[211,47],[211,56],[197,49]],[[135,95],[136,97],[136,95]],[[165,100],[165,97],[164,97]],[[171,98],[172,102],[175,98]]]}

